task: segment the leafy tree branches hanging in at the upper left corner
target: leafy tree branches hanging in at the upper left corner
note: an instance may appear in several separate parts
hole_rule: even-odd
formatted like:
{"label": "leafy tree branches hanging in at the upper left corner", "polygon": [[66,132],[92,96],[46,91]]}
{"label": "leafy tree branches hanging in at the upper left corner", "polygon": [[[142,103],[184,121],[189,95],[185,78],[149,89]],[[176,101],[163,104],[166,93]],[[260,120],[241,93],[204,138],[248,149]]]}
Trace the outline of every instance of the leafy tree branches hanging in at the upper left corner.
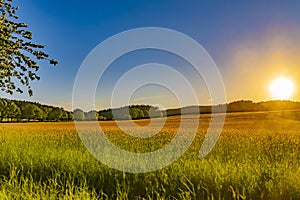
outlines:
{"label": "leafy tree branches hanging in at the upper left corner", "polygon": [[16,82],[27,87],[32,96],[30,82],[39,80],[37,60],[46,60],[51,65],[57,61],[49,59],[42,49],[44,45],[32,42],[32,33],[27,25],[19,22],[12,0],[0,0],[0,89],[9,94],[23,93]]}

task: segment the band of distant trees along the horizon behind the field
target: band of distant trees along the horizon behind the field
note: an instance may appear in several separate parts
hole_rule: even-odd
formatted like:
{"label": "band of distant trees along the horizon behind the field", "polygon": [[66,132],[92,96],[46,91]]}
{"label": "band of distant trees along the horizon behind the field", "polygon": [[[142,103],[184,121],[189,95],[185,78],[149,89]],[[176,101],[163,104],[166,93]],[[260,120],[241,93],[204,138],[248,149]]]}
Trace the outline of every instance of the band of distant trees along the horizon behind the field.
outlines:
{"label": "band of distant trees along the horizon behind the field", "polygon": [[149,105],[132,105],[121,108],[92,110],[84,112],[76,109],[73,112],[63,108],[42,105],[35,102],[17,101],[0,98],[0,122],[58,122],[58,121],[105,121],[105,120],[129,120],[167,117],[185,114],[203,114],[215,112],[254,112],[273,110],[300,109],[300,102],[293,101],[266,101],[254,103],[249,100],[235,101],[228,104],[214,106],[189,106],[165,111]]}

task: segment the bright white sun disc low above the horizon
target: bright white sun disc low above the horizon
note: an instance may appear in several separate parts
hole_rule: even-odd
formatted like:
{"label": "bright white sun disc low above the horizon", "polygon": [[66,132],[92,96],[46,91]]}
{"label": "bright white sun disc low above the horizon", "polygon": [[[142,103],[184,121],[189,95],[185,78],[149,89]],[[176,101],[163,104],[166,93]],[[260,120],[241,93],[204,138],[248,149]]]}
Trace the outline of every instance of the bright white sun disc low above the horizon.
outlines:
{"label": "bright white sun disc low above the horizon", "polygon": [[288,78],[278,78],[270,85],[270,93],[273,98],[278,100],[287,100],[294,93],[294,83]]}

